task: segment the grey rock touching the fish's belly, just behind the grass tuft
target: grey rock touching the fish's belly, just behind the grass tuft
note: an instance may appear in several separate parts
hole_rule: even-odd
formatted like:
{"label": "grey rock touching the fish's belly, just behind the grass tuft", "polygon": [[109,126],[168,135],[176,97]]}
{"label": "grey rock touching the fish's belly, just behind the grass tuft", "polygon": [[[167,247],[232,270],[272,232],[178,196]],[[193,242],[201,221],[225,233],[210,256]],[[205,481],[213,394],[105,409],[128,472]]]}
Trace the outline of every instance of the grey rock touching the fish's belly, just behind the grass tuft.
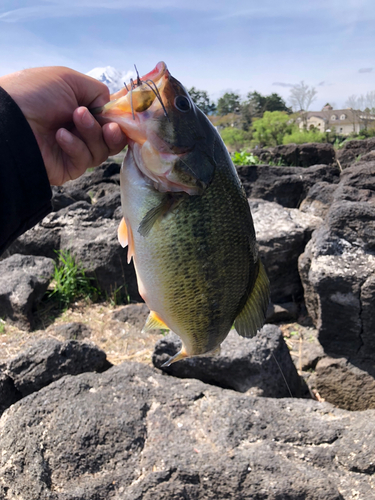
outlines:
{"label": "grey rock touching the fish's belly, just behind the grass tuft", "polygon": [[95,205],[74,203],[47,215],[8,251],[56,258],[55,250],[70,250],[104,293],[141,301],[134,266],[127,263],[127,249],[117,239],[120,203],[119,193],[100,198]]}

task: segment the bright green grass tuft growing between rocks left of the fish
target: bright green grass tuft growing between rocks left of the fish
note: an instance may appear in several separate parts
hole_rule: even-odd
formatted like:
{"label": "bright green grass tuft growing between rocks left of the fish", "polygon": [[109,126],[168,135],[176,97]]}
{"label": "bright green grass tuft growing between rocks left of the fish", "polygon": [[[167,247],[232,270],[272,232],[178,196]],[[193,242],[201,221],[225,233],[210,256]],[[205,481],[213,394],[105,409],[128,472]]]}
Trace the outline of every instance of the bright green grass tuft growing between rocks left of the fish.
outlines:
{"label": "bright green grass tuft growing between rocks left of the fish", "polygon": [[54,288],[49,297],[56,299],[62,308],[79,298],[96,300],[99,290],[92,285],[94,278],[86,276],[82,265],[68,250],[56,253],[58,260],[53,275]]}

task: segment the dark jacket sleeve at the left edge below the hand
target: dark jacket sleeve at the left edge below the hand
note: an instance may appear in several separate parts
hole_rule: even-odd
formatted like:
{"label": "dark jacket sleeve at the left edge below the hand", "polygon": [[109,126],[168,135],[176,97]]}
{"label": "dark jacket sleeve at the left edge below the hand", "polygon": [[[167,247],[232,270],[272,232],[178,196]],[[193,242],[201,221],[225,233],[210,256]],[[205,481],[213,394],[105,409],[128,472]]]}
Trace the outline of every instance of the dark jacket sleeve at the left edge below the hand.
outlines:
{"label": "dark jacket sleeve at the left edge below the hand", "polygon": [[51,210],[52,192],[34,134],[0,87],[0,255]]}

